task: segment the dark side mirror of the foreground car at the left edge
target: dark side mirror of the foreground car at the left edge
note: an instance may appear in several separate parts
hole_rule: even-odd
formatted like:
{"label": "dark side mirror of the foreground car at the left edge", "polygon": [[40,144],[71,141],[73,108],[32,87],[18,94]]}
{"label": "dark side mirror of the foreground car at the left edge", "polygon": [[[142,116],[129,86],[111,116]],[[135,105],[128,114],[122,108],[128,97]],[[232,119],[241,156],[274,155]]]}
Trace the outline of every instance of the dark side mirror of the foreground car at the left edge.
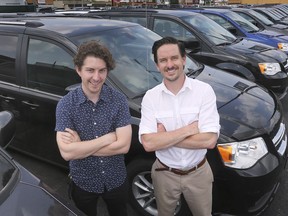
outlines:
{"label": "dark side mirror of the foreground car at the left edge", "polygon": [[0,112],[0,146],[6,148],[13,140],[16,131],[14,115],[9,111]]}

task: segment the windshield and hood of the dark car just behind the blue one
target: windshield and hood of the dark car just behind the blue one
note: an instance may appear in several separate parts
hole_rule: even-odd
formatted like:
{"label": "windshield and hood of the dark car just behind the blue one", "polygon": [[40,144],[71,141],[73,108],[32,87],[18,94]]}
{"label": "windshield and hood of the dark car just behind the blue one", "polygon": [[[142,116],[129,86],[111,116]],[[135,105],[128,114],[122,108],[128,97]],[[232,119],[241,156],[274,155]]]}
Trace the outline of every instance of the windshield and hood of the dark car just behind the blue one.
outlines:
{"label": "windshield and hood of the dark car just behind the blue one", "polygon": [[232,8],[232,11],[253,23],[260,30],[267,29],[288,35],[288,25],[274,23],[263,14],[251,8]]}

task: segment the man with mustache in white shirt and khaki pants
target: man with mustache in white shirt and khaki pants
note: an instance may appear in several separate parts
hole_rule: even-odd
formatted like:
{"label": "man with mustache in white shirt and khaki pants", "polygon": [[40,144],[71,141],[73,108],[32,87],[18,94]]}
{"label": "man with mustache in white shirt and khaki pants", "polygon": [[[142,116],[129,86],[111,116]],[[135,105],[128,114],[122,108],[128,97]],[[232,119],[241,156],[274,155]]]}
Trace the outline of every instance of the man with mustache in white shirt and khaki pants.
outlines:
{"label": "man with mustache in white shirt and khaki pants", "polygon": [[174,215],[181,194],[193,216],[209,216],[213,173],[206,152],[220,130],[215,93],[185,75],[183,43],[164,37],[152,53],[163,82],[143,98],[139,140],[146,151],[156,152],[151,175],[158,216]]}

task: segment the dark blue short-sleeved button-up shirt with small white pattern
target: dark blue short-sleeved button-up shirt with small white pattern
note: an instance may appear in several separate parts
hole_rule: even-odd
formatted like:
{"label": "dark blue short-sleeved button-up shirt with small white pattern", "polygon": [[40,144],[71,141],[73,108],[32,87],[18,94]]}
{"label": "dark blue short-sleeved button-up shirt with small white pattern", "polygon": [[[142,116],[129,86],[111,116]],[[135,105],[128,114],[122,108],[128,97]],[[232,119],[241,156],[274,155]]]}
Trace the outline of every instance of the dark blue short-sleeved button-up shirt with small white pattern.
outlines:
{"label": "dark blue short-sleeved button-up shirt with small white pattern", "polygon": [[[103,85],[96,104],[79,87],[65,95],[56,108],[56,131],[70,128],[82,141],[92,140],[130,124],[127,100],[117,90]],[[126,178],[124,155],[89,156],[69,161],[70,175],[83,190],[102,193],[119,187]]]}

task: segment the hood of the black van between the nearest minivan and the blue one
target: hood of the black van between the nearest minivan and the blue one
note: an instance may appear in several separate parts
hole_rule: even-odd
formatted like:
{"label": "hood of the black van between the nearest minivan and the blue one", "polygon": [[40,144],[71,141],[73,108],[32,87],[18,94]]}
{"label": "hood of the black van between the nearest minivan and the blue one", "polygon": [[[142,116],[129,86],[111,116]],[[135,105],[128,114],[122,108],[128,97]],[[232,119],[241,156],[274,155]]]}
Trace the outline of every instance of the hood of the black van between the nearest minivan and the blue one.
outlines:
{"label": "hood of the black van between the nearest minivan and the blue one", "polygon": [[[231,56],[239,54],[239,59],[249,57],[251,61],[256,62],[279,62],[283,63],[287,60],[287,55],[266,44],[258,43],[248,39],[242,39],[238,43],[233,43],[225,47],[226,52]],[[244,57],[243,57],[244,56]]]}

